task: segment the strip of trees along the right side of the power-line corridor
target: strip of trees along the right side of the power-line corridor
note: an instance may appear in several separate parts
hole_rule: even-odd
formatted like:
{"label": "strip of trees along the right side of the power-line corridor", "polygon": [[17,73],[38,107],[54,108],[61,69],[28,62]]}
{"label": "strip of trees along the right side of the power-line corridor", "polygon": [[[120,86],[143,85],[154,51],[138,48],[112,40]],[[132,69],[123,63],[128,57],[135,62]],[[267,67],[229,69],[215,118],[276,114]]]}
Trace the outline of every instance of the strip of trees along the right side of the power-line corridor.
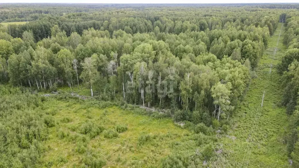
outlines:
{"label": "strip of trees along the right side of the power-line corridor", "polygon": [[289,128],[287,131],[287,149],[289,157],[295,167],[299,166],[299,111],[298,111],[298,91],[299,91],[299,15],[298,13],[285,13],[286,33],[283,38],[287,51],[282,61],[277,65],[277,70],[282,77],[284,87],[283,106],[286,106],[287,114],[290,115]]}

